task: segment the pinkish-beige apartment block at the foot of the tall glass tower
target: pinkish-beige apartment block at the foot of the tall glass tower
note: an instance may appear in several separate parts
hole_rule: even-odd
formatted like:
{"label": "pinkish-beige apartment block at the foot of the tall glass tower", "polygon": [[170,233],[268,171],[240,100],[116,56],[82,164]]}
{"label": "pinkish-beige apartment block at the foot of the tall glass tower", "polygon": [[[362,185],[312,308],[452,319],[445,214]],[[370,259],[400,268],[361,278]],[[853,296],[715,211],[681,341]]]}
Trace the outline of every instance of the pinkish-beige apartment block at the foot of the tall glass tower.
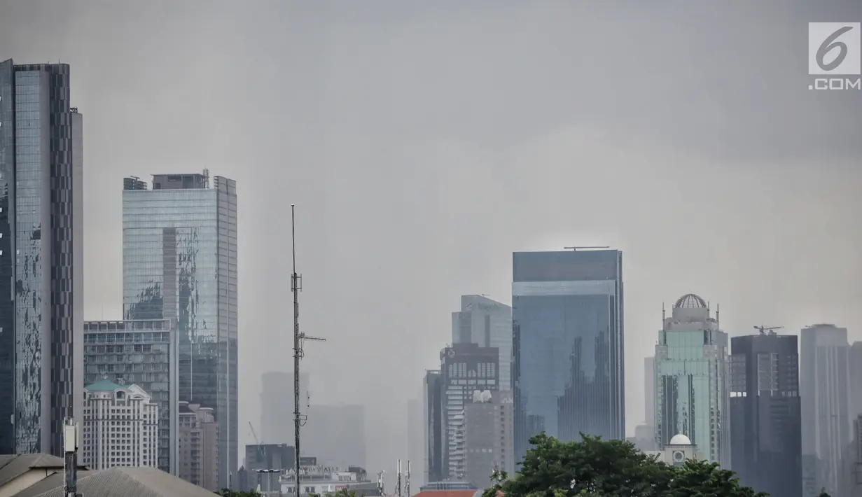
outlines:
{"label": "pinkish-beige apartment block at the foot of the tall glass tower", "polygon": [[198,487],[217,491],[218,423],[211,407],[179,403],[179,477]]}

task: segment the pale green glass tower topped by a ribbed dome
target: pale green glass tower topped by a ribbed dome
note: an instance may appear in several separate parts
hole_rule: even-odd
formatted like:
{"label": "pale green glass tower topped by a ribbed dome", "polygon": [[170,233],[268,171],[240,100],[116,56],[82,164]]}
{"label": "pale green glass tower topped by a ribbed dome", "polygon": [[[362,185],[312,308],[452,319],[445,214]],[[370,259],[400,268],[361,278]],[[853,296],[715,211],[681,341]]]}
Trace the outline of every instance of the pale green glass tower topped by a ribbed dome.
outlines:
{"label": "pale green glass tower topped by a ribbed dome", "polygon": [[730,469],[728,334],[697,295],[679,297],[655,346],[656,444],[679,433],[702,459]]}

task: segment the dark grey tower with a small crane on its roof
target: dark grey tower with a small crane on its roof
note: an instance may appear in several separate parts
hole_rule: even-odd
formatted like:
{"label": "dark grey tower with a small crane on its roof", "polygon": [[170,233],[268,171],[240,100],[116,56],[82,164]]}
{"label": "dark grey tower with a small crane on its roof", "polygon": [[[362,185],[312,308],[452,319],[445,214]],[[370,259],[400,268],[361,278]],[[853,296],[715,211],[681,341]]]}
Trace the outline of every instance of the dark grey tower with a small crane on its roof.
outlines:
{"label": "dark grey tower with a small crane on its roof", "polygon": [[802,413],[796,335],[730,339],[733,469],[758,492],[802,497]]}

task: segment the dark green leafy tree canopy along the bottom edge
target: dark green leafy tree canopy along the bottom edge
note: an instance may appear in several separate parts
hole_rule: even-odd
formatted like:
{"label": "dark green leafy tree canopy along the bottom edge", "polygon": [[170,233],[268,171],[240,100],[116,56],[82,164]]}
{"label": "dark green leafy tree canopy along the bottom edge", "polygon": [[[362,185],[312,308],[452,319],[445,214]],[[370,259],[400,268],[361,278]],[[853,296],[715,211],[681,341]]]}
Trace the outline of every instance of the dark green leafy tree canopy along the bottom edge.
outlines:
{"label": "dark green leafy tree canopy along the bottom edge", "polygon": [[530,438],[521,468],[509,478],[491,475],[483,497],[765,497],[740,487],[733,471],[718,464],[687,461],[681,467],[659,462],[622,440],[581,434],[580,442],[560,442],[545,433]]}

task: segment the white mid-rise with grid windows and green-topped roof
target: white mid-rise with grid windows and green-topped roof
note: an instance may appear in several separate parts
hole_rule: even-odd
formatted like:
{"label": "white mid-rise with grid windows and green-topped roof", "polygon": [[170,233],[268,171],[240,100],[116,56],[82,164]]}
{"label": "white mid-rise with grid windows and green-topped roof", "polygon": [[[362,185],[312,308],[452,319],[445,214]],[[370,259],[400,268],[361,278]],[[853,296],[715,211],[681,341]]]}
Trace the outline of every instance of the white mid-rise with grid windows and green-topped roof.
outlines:
{"label": "white mid-rise with grid windows and green-topped roof", "polygon": [[90,469],[159,466],[159,406],[143,388],[100,380],[84,388],[82,462]]}

